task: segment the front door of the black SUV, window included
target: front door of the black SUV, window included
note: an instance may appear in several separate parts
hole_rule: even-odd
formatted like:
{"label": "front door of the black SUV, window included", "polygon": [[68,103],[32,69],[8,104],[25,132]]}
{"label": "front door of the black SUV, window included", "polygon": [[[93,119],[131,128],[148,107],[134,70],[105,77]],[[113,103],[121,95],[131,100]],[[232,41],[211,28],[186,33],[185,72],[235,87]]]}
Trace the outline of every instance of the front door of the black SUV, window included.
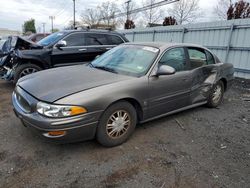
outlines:
{"label": "front door of the black SUV, window included", "polygon": [[62,40],[66,42],[65,47],[53,47],[51,54],[53,66],[74,65],[89,61],[83,32],[71,33]]}

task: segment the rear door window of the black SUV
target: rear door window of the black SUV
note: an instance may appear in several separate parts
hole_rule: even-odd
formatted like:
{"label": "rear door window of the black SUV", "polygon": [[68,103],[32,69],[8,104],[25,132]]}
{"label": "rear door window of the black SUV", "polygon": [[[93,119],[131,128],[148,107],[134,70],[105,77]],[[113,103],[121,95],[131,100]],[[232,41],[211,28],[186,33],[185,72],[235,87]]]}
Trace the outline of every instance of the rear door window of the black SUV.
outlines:
{"label": "rear door window of the black SUV", "polygon": [[87,46],[108,45],[108,40],[104,34],[86,33],[85,36]]}

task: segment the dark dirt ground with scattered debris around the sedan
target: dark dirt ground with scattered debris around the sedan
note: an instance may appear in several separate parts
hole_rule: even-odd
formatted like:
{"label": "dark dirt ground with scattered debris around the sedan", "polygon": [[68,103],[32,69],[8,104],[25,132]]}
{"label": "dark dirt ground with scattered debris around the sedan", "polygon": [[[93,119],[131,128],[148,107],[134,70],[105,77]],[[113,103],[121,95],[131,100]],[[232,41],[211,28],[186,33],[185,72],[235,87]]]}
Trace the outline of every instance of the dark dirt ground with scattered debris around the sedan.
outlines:
{"label": "dark dirt ground with scattered debris around the sedan", "polygon": [[216,109],[198,107],[137,129],[129,141],[55,145],[22,126],[0,81],[0,187],[250,187],[250,81]]}

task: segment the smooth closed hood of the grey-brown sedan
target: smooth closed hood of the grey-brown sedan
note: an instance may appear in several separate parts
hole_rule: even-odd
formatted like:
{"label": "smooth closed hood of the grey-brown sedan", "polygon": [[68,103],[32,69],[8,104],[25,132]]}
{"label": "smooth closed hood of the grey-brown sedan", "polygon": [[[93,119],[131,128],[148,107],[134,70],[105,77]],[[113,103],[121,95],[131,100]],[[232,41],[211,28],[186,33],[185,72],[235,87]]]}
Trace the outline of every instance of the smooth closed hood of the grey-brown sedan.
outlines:
{"label": "smooth closed hood of the grey-brown sedan", "polygon": [[77,92],[131,78],[78,65],[37,72],[21,78],[17,85],[38,100],[53,103]]}

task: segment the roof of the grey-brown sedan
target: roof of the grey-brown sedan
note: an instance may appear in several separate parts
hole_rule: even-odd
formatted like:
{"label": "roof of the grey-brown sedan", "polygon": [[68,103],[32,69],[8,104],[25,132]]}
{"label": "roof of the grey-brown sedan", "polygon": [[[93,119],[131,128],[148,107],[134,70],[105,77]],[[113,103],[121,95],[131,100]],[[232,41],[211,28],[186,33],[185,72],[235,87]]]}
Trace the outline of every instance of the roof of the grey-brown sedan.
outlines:
{"label": "roof of the grey-brown sedan", "polygon": [[142,45],[142,46],[150,46],[150,47],[155,47],[155,48],[159,48],[161,50],[165,50],[166,48],[170,48],[170,47],[179,47],[179,46],[183,46],[183,47],[196,47],[196,48],[203,48],[206,49],[203,46],[197,45],[197,44],[190,44],[190,43],[167,43],[167,42],[128,42],[125,43],[125,45]]}

